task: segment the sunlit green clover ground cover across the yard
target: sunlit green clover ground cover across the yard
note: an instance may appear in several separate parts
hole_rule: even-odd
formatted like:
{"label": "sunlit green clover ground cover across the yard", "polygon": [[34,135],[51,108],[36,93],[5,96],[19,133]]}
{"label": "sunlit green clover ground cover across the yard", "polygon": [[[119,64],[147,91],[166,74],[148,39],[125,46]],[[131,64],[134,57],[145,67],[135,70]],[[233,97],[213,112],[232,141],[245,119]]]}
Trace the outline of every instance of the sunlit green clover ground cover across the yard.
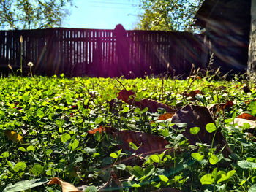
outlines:
{"label": "sunlit green clover ground cover across the yard", "polygon": [[[53,177],[82,191],[255,191],[253,81],[8,77],[0,85],[0,191],[61,191],[46,184]],[[131,104],[117,99],[124,88],[136,94]],[[189,104],[211,108],[215,123],[195,123],[189,132],[200,138],[206,130],[213,141],[189,145],[182,133],[191,122],[161,120],[165,110],[144,109],[142,99],[173,110]],[[245,112],[251,121],[238,126]],[[96,128],[105,131],[88,132]],[[130,139],[115,137],[124,130]],[[140,145],[135,131],[145,140]],[[232,154],[211,145],[218,131]],[[161,139],[151,142],[154,136],[167,142],[161,153],[151,153],[162,145]]]}

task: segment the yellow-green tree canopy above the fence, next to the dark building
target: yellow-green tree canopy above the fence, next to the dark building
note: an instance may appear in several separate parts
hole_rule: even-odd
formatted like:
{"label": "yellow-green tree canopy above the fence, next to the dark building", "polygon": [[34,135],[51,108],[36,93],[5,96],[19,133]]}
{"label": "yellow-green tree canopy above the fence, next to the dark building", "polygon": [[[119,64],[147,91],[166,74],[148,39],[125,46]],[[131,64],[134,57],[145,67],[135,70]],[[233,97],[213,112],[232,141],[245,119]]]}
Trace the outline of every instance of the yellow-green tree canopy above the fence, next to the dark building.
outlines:
{"label": "yellow-green tree canopy above the fence, next to the dark building", "polygon": [[193,18],[204,0],[140,0],[143,15],[138,28],[160,31],[194,31]]}

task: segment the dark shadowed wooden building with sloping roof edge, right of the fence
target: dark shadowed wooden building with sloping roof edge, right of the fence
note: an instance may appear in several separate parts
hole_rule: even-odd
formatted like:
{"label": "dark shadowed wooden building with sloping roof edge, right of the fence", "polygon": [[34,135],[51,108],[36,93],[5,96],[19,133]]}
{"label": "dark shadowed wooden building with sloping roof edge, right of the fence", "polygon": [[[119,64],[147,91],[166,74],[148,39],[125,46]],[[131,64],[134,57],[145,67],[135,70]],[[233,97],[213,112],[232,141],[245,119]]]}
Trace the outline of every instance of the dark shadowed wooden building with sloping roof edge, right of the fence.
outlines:
{"label": "dark shadowed wooden building with sloping roof edge, right of the fence", "polygon": [[224,73],[246,72],[252,1],[206,0],[195,16],[195,25],[206,29],[214,66]]}

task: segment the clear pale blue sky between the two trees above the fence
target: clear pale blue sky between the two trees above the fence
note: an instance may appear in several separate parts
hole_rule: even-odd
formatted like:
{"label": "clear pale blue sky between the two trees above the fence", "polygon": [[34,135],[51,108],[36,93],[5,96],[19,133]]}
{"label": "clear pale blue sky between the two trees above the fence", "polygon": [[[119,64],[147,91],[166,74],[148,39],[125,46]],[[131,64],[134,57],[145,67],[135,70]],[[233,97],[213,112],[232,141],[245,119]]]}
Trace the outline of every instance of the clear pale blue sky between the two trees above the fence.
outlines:
{"label": "clear pale blue sky between the two trees above the fence", "polygon": [[64,20],[67,28],[114,29],[121,23],[125,29],[135,28],[140,0],[74,0],[78,8],[69,8]]}

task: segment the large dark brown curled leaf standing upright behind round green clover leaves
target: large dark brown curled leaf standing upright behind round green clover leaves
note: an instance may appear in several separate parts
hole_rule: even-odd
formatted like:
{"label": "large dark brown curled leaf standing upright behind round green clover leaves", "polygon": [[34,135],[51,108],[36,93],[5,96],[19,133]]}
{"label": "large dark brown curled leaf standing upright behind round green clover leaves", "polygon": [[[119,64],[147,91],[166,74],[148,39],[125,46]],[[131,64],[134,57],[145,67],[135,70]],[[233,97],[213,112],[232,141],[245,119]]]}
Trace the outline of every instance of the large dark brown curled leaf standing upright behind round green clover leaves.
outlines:
{"label": "large dark brown curled leaf standing upright behind round green clover leaves", "polygon": [[[173,115],[171,123],[187,123],[187,128],[182,132],[182,134],[184,137],[187,137],[191,145],[195,145],[196,142],[200,141],[211,145],[214,132],[208,133],[208,131],[206,131],[206,125],[208,123],[214,123],[214,120],[206,107],[187,105]],[[190,128],[192,127],[200,127],[200,131],[197,135],[190,133]],[[214,138],[214,146],[220,146],[218,147],[218,150],[225,147],[223,150],[225,155],[230,155],[230,153],[232,153],[232,150],[230,150],[230,147],[227,145],[225,137],[219,129],[217,130]]]}

